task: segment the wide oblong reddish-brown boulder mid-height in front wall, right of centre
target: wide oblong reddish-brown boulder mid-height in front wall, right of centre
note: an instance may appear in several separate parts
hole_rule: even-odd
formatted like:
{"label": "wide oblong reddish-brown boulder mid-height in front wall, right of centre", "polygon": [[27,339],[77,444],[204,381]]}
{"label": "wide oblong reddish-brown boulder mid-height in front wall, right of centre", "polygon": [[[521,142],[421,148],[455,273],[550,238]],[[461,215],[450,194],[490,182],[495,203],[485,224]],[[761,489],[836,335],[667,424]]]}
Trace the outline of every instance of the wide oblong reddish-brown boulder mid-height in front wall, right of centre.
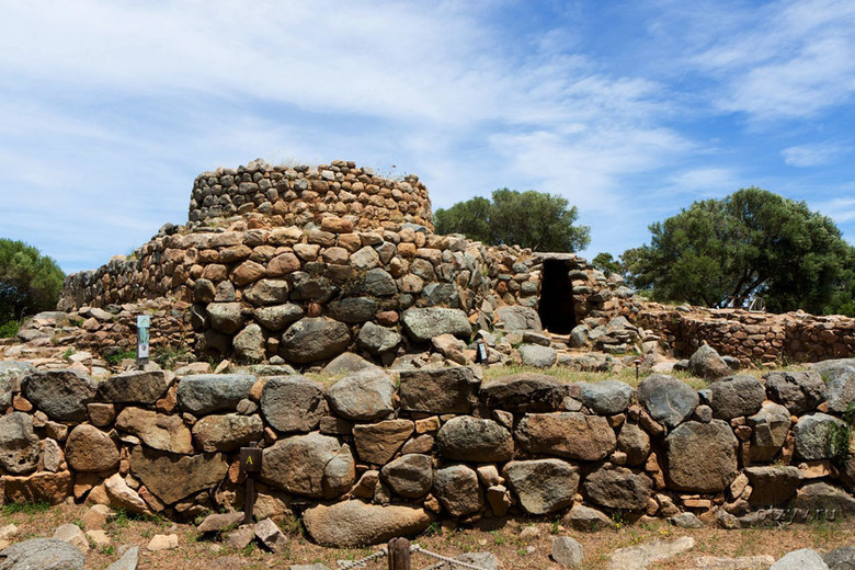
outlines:
{"label": "wide oblong reddish-brown boulder mid-height in front wall, right of centre", "polygon": [[608,420],[580,412],[527,413],[516,426],[516,441],[531,453],[584,461],[605,458],[617,443]]}

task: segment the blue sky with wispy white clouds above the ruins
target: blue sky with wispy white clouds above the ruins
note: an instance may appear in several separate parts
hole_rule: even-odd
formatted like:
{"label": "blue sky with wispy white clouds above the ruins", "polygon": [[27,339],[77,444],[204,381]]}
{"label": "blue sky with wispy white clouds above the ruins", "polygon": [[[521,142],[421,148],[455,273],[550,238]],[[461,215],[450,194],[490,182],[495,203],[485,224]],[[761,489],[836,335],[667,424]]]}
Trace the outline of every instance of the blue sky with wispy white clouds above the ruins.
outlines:
{"label": "blue sky with wispy white clouds above the ruins", "polygon": [[566,196],[619,254],[756,185],[855,241],[855,2],[0,0],[0,237],[66,272],[256,157]]}

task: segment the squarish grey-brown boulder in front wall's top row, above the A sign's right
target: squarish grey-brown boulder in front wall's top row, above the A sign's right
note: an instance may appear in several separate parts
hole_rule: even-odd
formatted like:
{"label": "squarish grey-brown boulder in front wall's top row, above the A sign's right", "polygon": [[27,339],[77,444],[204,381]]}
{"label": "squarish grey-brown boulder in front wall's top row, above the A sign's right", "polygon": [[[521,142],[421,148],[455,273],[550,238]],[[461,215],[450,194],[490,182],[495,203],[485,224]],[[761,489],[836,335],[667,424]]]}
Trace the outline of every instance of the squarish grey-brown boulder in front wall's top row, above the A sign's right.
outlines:
{"label": "squarish grey-brown boulder in front wall's top row, above the A sign's right", "polygon": [[323,386],[305,376],[275,376],[261,392],[264,419],[280,432],[309,432],[327,413]]}

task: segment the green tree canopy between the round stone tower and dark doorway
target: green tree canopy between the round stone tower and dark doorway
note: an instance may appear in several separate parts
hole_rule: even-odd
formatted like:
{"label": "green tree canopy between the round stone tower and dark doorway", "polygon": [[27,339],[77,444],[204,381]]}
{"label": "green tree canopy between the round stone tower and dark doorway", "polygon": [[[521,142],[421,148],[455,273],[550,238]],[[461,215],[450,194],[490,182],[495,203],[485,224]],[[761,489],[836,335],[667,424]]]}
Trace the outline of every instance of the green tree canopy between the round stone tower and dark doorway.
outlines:
{"label": "green tree canopy between the round stone tower and dark doorway", "polygon": [[499,189],[492,201],[476,196],[435,212],[437,233],[464,233],[491,244],[518,244],[536,251],[578,251],[591,241],[590,228],[567,198],[529,190]]}

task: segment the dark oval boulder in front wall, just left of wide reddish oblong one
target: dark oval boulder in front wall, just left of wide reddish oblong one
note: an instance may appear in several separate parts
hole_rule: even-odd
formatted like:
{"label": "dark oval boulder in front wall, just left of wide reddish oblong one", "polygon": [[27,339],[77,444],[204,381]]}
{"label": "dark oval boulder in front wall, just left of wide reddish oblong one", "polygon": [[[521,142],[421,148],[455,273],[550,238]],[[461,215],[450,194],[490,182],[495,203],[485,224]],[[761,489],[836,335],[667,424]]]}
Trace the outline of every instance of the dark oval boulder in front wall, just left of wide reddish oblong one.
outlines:
{"label": "dark oval boulder in front wall, just left of wide reddish oblong one", "polygon": [[514,455],[511,432],[492,420],[460,415],[445,422],[436,435],[440,455],[460,461],[506,461]]}

